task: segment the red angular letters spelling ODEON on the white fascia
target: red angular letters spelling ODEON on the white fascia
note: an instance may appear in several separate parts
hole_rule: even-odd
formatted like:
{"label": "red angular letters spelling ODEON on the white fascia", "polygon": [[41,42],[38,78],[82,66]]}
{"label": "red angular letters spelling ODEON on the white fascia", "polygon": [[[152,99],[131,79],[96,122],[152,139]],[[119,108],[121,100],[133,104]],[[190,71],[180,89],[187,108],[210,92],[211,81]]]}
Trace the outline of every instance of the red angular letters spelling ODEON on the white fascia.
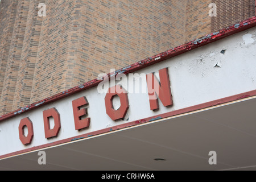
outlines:
{"label": "red angular letters spelling ODEON on the white fascia", "polygon": [[[160,82],[159,82],[160,81]],[[168,68],[159,70],[159,81],[153,73],[146,75],[148,100],[151,110],[159,109],[158,98],[162,102],[163,106],[171,106],[172,93],[170,86],[170,77],[168,75]],[[114,91],[114,92],[113,92]],[[120,100],[120,107],[115,110],[113,107],[113,98],[118,96]],[[88,115],[87,109],[80,107],[88,105],[86,97],[80,97],[72,101],[73,107],[73,118],[75,123],[75,130],[86,129],[90,126],[91,119],[84,118]],[[124,118],[127,110],[129,109],[129,100],[127,97],[127,91],[120,85],[112,86],[108,89],[105,96],[105,108],[106,114],[113,120]],[[83,117],[83,118],[82,118]],[[50,128],[50,118],[53,118],[54,127]],[[60,114],[55,107],[43,111],[43,122],[44,122],[44,135],[45,138],[49,139],[57,137],[60,128]],[[27,134],[24,134],[24,128],[27,127]],[[23,118],[19,123],[19,139],[26,145],[30,144],[34,137],[33,123],[29,117]]]}

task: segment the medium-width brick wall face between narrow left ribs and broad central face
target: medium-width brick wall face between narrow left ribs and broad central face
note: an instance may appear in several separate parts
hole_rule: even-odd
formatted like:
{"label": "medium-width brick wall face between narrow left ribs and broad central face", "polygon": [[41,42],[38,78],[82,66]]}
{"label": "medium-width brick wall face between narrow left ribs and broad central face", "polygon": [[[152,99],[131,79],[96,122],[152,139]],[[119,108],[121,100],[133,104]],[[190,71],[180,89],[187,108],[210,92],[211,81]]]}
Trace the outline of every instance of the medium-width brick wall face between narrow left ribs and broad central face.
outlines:
{"label": "medium-width brick wall face between narrow left ribs and broad central face", "polygon": [[[36,102],[66,89],[69,65],[76,61],[74,49],[79,48],[73,34],[76,1],[46,0],[46,17],[42,28],[35,64],[30,102]],[[72,36],[73,35],[73,36]]]}

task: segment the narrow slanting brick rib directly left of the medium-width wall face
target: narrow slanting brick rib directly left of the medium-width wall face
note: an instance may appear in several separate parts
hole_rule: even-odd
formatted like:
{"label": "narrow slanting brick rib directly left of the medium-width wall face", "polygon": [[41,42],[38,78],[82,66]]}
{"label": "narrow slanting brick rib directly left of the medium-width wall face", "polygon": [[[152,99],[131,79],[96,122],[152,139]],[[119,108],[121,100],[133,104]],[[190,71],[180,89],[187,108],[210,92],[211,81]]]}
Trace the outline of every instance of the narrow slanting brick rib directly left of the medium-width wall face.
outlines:
{"label": "narrow slanting brick rib directly left of the medium-width wall face", "polygon": [[13,110],[30,104],[43,20],[43,18],[38,16],[38,4],[44,2],[45,0],[30,1],[23,48],[19,63],[18,80],[16,81],[15,87]]}

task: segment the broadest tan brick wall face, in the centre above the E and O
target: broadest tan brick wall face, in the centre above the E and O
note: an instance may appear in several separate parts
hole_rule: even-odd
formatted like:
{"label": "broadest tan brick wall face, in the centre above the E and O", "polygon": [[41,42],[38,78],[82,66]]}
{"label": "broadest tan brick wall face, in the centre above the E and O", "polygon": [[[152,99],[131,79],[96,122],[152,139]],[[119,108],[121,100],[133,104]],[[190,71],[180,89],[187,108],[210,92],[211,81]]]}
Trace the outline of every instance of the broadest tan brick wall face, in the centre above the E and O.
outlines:
{"label": "broadest tan brick wall face, in the centre above the E and O", "polygon": [[185,1],[79,2],[79,61],[70,65],[76,78],[69,87],[183,43]]}

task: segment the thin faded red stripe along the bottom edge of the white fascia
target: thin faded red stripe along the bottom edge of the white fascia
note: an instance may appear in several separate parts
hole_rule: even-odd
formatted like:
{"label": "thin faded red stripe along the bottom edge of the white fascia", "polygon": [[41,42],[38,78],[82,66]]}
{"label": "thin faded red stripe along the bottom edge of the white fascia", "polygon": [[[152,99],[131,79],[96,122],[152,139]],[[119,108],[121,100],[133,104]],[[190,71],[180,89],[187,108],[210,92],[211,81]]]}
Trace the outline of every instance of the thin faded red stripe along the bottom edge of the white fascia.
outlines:
{"label": "thin faded red stripe along the bottom edge of the white fascia", "polygon": [[237,95],[230,96],[230,97],[221,98],[221,99],[218,99],[218,100],[215,100],[215,101],[206,102],[204,104],[199,104],[199,105],[195,105],[195,106],[191,106],[191,107],[186,107],[184,109],[170,111],[168,113],[155,115],[154,117],[139,119],[137,121],[132,121],[132,122],[128,122],[128,123],[125,123],[125,124],[122,124],[122,125],[117,125],[117,126],[109,127],[109,128],[102,129],[102,130],[93,131],[91,133],[77,135],[76,137],[67,138],[67,139],[56,141],[56,142],[43,144],[41,146],[36,146],[36,147],[27,148],[25,150],[11,152],[10,154],[1,155],[0,159],[7,158],[9,156],[18,155],[18,154],[23,154],[23,153],[34,151],[34,150],[40,150],[40,149],[46,148],[46,147],[56,146],[58,144],[71,142],[72,140],[88,138],[88,137],[92,137],[92,136],[99,135],[99,134],[105,134],[105,133],[109,133],[110,131],[115,131],[115,130],[118,130],[118,129],[125,129],[126,127],[135,126],[135,125],[139,125],[139,124],[142,124],[142,123],[147,123],[147,122],[149,123],[151,121],[156,121],[156,120],[162,119],[162,118],[167,118],[167,117],[172,117],[172,116],[179,115],[179,114],[189,113],[189,112],[192,112],[192,111],[205,109],[205,108],[212,107],[212,106],[217,106],[217,105],[220,105],[220,104],[226,104],[228,102],[237,101],[237,100],[241,100],[243,98],[249,98],[249,97],[252,97],[252,96],[256,96],[256,90],[252,90],[250,92],[237,94]]}

